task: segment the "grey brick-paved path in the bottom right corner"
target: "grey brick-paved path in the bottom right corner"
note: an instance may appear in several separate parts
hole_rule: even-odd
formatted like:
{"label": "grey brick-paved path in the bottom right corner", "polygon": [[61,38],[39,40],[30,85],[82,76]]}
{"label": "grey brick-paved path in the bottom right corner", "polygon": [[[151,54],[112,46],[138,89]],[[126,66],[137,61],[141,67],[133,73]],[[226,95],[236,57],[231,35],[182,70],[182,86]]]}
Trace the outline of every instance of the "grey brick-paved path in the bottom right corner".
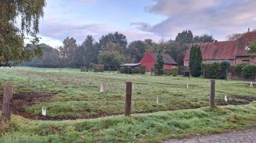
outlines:
{"label": "grey brick-paved path in the bottom right corner", "polygon": [[210,136],[203,137],[192,137],[184,138],[181,140],[172,139],[164,141],[164,143],[194,143],[194,142],[205,142],[205,143],[245,143],[245,142],[256,142],[256,127],[248,130],[240,130],[237,132],[213,134]]}

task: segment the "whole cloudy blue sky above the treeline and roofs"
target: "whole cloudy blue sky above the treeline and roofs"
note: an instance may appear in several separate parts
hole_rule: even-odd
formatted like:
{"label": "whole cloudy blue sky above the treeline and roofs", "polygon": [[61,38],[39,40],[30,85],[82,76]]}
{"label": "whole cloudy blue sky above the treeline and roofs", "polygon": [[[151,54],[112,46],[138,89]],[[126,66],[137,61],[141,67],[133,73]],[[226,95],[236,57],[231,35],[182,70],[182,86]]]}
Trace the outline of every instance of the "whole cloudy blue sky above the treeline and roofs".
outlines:
{"label": "whole cloudy blue sky above the treeline and roofs", "polygon": [[231,33],[256,28],[255,0],[46,0],[39,23],[40,42],[53,48],[66,37],[81,44],[88,34],[95,41],[111,32],[128,42],[151,38],[175,39],[183,30],[213,34],[224,41]]}

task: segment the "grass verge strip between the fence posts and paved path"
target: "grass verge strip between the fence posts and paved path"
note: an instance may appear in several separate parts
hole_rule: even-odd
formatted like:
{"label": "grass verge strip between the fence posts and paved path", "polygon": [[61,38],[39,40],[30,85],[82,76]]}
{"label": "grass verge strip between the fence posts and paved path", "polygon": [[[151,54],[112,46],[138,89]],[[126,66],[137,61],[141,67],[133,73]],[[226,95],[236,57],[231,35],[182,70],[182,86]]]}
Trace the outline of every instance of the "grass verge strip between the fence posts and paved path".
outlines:
{"label": "grass verge strip between the fence posts and paved path", "polygon": [[256,102],[75,121],[31,121],[12,115],[0,142],[162,142],[254,127]]}

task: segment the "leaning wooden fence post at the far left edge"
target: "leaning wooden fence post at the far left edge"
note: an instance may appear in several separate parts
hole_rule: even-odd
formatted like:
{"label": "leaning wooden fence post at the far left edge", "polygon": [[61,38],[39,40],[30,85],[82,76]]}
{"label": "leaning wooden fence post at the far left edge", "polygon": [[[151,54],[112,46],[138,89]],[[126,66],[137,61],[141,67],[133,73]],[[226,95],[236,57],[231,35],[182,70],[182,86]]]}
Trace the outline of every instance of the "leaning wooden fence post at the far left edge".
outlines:
{"label": "leaning wooden fence post at the far left edge", "polygon": [[10,121],[12,114],[13,86],[5,86],[3,91],[3,109],[0,123]]}

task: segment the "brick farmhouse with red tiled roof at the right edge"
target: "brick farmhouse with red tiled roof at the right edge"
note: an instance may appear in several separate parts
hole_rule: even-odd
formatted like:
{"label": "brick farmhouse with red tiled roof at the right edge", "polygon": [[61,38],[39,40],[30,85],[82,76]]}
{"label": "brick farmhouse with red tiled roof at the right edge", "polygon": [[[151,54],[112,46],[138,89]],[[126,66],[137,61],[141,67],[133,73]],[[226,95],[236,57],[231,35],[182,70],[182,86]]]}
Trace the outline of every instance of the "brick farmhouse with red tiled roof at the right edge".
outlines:
{"label": "brick farmhouse with red tiled roof at the right edge", "polygon": [[[212,63],[213,61],[229,60],[231,65],[248,62],[256,65],[256,59],[251,59],[247,54],[248,45],[256,41],[256,31],[247,32],[242,37],[233,41],[217,41],[200,43],[203,62]],[[190,49],[184,58],[184,65],[190,63]]]}

